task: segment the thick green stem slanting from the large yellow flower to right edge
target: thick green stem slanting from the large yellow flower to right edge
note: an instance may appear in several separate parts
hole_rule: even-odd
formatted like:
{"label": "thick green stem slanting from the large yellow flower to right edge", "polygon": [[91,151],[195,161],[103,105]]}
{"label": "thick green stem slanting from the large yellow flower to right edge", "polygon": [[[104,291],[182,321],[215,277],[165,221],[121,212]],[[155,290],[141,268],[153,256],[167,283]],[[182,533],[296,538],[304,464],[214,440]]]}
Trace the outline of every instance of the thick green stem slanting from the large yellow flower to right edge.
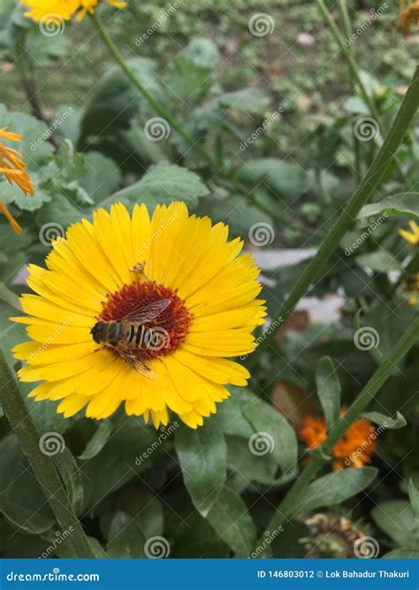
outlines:
{"label": "thick green stem slanting from the large yellow flower to right edge", "polygon": [[256,359],[262,350],[274,339],[278,328],[286,321],[295,305],[301,297],[307,293],[309,286],[316,280],[322,271],[324,264],[331,258],[332,254],[339,247],[339,241],[347,233],[347,230],[354,226],[356,216],[361,211],[362,206],[367,203],[369,196],[378,187],[382,180],[385,170],[391,161],[400,142],[406,133],[408,126],[415,116],[419,106],[419,66],[415,70],[414,77],[410,82],[408,92],[406,93],[400,110],[392,123],[392,127],[385,138],[385,142],[379,149],[377,156],[369,166],[361,185],[357,188],[354,195],[347,202],[339,218],[335,221],[329,233],[324,238],[316,256],[311,259],[304,272],[301,273],[300,279],[297,280],[291,293],[288,295],[286,302],[280,307],[272,321],[272,329],[263,337],[255,352],[249,360],[250,366],[255,364]]}

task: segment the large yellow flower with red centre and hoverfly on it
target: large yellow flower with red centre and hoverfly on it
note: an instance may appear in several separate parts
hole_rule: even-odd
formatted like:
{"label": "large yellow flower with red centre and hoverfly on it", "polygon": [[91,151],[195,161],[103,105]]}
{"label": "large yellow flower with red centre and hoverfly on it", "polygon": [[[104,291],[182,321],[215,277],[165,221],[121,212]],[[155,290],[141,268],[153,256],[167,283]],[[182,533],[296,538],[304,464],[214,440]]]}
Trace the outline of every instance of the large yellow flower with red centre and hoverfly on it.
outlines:
{"label": "large yellow flower with red centre and hoverfly on it", "polygon": [[48,270],[29,266],[29,317],[12,318],[31,338],[13,349],[27,362],[19,379],[43,381],[30,395],[61,400],[65,417],[86,407],[88,418],[107,418],[125,402],[156,428],[168,410],[202,425],[229,396],[225,385],[247,384],[248,371],[226,357],[255,349],[265,316],[259,270],[227,234],[185,203],[151,218],[144,204],[131,217],[116,203],[69,227]]}

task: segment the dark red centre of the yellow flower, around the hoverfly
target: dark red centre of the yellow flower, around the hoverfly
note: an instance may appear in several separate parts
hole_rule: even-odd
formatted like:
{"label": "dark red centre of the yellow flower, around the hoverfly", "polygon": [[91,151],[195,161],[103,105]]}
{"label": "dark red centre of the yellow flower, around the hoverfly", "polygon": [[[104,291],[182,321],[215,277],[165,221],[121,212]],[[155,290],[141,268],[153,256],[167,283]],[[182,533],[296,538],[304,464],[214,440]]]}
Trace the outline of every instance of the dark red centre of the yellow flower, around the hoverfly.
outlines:
{"label": "dark red centre of the yellow flower, around the hoverfly", "polygon": [[[167,307],[156,318],[141,321],[141,310],[152,303],[169,300]],[[176,290],[164,287],[156,281],[136,281],[126,284],[115,293],[106,295],[98,321],[124,320],[133,327],[143,325],[147,329],[145,341],[134,351],[142,361],[171,354],[185,341],[192,316]]]}

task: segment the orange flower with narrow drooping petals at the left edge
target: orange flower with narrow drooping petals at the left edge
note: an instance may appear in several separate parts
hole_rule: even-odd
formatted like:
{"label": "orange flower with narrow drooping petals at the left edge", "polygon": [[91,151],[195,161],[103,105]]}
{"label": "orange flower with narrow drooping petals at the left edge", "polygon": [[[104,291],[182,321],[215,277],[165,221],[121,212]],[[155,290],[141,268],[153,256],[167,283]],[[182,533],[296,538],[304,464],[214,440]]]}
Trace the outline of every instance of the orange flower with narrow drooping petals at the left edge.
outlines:
{"label": "orange flower with narrow drooping petals at the left edge", "polygon": [[[0,129],[0,140],[9,140],[10,142],[20,142],[22,136],[13,134],[6,129]],[[27,165],[23,161],[19,151],[11,149],[0,142],[0,174],[3,173],[6,180],[14,182],[25,193],[25,195],[34,195],[34,185],[27,173]],[[0,211],[4,213],[11,227],[16,234],[21,234],[22,229],[18,222],[12,217],[11,212],[6,205],[0,202]]]}

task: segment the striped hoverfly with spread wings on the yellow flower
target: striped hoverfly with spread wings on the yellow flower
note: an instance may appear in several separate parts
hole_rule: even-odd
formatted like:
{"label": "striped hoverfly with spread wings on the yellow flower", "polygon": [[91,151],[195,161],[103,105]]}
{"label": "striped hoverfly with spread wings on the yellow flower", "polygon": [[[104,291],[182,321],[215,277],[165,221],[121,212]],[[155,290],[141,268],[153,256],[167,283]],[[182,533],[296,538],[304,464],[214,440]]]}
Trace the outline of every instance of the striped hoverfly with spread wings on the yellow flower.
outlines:
{"label": "striped hoverfly with spread wings on the yellow flower", "polygon": [[141,375],[155,379],[155,373],[146,361],[138,358],[138,353],[151,349],[158,341],[159,328],[148,327],[146,324],[158,318],[170,303],[170,299],[142,303],[123,318],[97,322],[90,333],[97,344],[115,350]]}

